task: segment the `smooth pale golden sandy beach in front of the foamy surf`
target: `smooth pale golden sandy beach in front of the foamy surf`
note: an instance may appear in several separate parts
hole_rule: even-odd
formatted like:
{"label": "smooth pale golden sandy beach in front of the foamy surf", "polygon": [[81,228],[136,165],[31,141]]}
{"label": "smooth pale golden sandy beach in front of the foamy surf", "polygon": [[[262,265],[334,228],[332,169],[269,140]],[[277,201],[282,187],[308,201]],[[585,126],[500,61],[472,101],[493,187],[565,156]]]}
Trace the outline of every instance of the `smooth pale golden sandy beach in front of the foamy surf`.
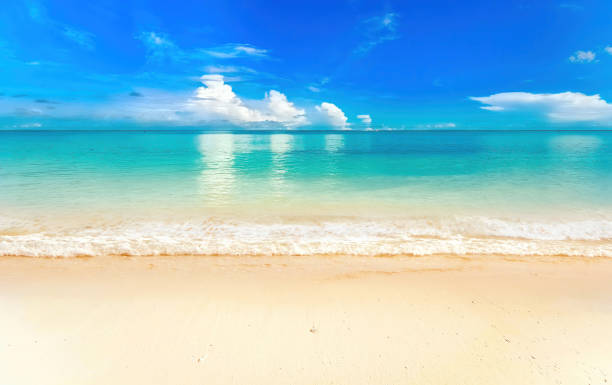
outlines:
{"label": "smooth pale golden sandy beach in front of the foamy surf", "polygon": [[0,259],[2,384],[604,384],[612,260]]}

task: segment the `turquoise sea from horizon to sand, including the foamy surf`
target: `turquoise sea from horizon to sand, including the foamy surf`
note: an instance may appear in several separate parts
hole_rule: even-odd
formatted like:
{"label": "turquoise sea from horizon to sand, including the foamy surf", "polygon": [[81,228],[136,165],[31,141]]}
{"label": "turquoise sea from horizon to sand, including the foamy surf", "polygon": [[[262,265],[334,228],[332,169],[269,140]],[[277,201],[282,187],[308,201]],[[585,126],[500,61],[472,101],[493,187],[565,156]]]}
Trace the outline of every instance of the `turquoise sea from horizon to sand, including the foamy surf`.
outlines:
{"label": "turquoise sea from horizon to sand, including the foamy surf", "polygon": [[612,256],[612,132],[0,132],[0,255]]}

